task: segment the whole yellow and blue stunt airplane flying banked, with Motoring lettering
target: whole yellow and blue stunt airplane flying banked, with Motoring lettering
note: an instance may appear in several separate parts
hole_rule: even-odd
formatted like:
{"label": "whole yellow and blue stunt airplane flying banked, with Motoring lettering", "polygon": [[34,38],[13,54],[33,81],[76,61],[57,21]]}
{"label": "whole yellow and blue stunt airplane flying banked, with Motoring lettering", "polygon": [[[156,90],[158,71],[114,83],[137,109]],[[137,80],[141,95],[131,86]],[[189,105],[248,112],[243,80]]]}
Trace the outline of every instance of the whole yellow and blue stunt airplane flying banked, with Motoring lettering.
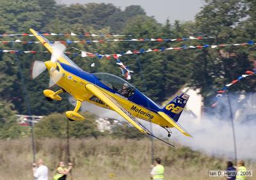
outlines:
{"label": "whole yellow and blue stunt airplane flying banked, with Motoring lettering", "polygon": [[[60,90],[56,92],[50,89],[44,90],[47,100],[60,101],[60,94],[66,92],[76,99],[75,109],[66,112],[70,121],[84,120],[84,117],[78,111],[81,103],[88,101],[105,109],[114,110],[131,123],[132,126],[150,136],[156,137],[138,119],[163,127],[168,132],[168,137],[170,137],[171,133],[170,128],[177,128],[184,135],[192,137],[177,123],[189,99],[188,94],[180,94],[180,96],[177,96],[165,107],[161,108],[120,77],[109,73],[92,74],[81,70],[63,53],[65,52],[65,45],[51,43],[42,34],[33,29],[30,29],[30,31],[52,54],[51,61],[35,61],[32,68],[32,77],[35,79],[47,69],[51,77],[51,86],[53,84],[60,86]],[[169,144],[168,142],[166,143]]]}

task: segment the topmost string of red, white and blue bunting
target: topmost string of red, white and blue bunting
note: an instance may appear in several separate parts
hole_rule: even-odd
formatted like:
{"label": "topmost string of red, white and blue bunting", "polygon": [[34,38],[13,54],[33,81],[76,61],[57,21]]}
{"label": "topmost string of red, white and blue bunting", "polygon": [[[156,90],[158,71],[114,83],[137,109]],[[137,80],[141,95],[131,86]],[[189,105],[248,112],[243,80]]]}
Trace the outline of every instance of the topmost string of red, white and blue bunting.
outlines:
{"label": "topmost string of red, white and blue bunting", "polygon": [[[163,42],[163,41],[188,41],[188,40],[205,40],[205,39],[210,39],[212,37],[193,37],[189,36],[189,38],[175,38],[175,39],[163,39],[163,38],[148,38],[148,39],[131,39],[131,40],[122,40],[122,39],[114,39],[114,40],[87,40],[87,41],[71,41],[71,40],[65,40],[65,41],[49,41],[50,43],[104,43],[104,42],[119,42],[119,41],[138,41],[138,42],[145,42],[145,41],[157,41],[157,42]],[[40,41],[21,41],[21,40],[15,40],[15,41],[0,41],[0,43],[7,44],[7,43],[24,43],[24,44],[36,44],[40,43]]]}

